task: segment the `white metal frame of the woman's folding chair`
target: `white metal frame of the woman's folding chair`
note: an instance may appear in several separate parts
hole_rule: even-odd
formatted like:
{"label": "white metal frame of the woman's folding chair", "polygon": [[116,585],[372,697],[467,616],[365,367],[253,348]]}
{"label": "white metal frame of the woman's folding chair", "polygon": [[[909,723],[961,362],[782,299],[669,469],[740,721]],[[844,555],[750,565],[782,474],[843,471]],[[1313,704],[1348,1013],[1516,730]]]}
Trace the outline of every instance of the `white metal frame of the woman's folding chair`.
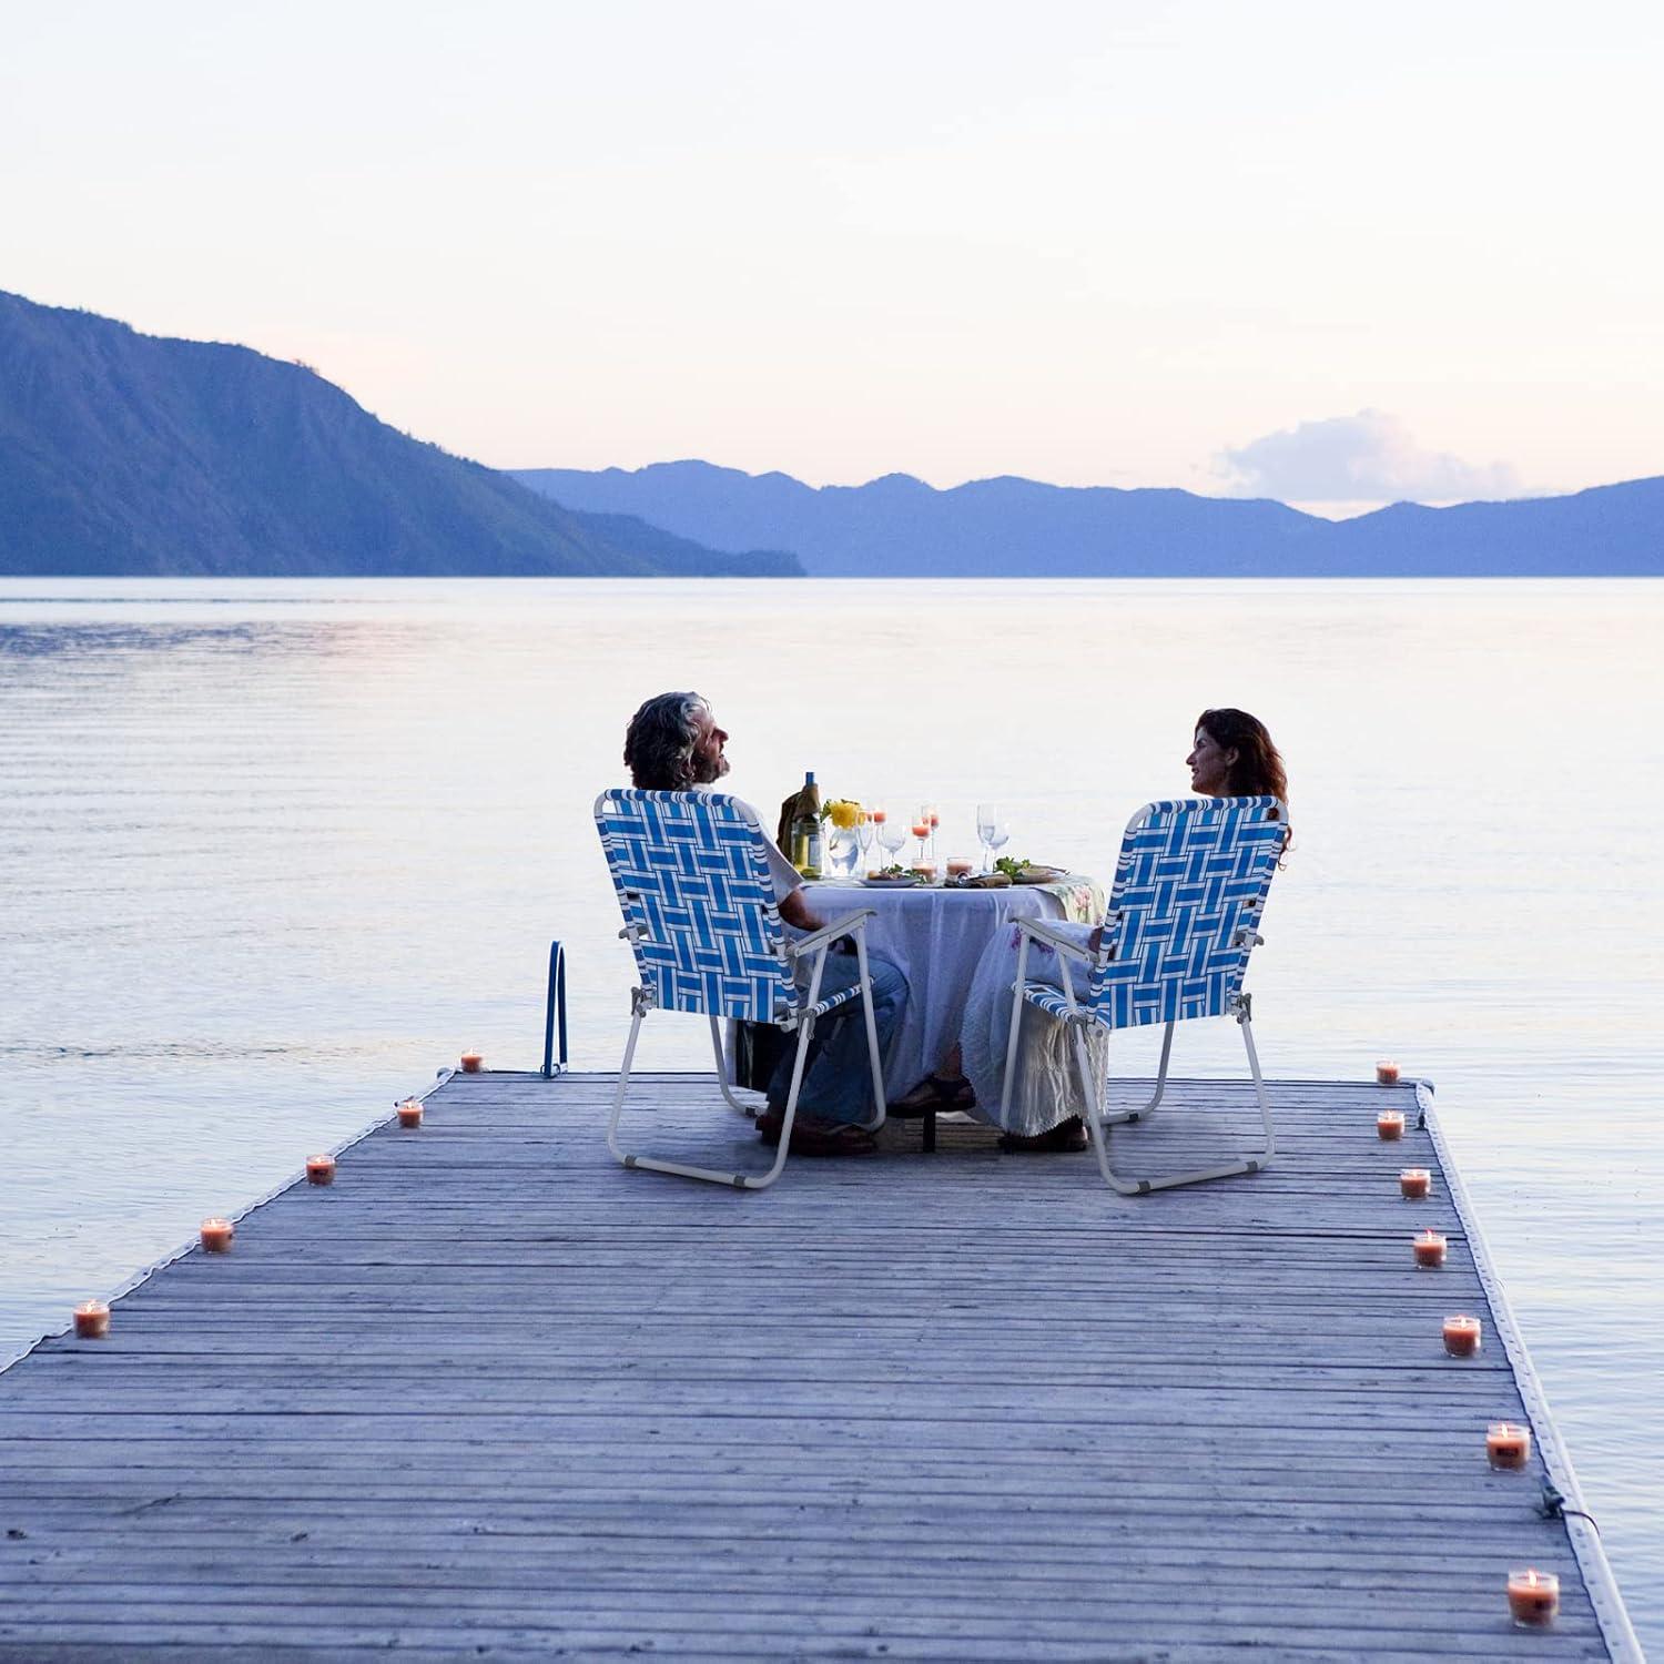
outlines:
{"label": "white metal frame of the woman's folding chair", "polygon": [[[1122,1110],[1115,1115],[1105,1110],[1105,1095],[1108,1090],[1108,1057],[1105,1057],[1105,1065],[1102,1075],[1092,1067],[1090,1053],[1087,1050],[1087,1025],[1097,1023],[1107,1032],[1125,1027],[1142,1027],[1151,1020],[1160,1022],[1160,1017],[1133,1015],[1132,1022],[1115,1022],[1112,1013],[1107,1010],[1108,1005],[1108,988],[1105,987],[1105,973],[1108,967],[1115,962],[1117,953],[1117,925],[1120,924],[1120,904],[1123,900],[1123,887],[1130,870],[1130,847],[1135,834],[1143,832],[1156,817],[1163,812],[1171,814],[1173,810],[1193,809],[1201,812],[1213,807],[1225,807],[1226,804],[1238,804],[1245,810],[1255,810],[1253,819],[1261,829],[1275,824],[1276,832],[1273,839],[1260,835],[1258,842],[1265,847],[1266,857],[1258,860],[1260,874],[1256,877],[1255,892],[1243,895],[1235,910],[1235,919],[1231,920],[1228,930],[1230,953],[1235,957],[1235,963],[1230,963],[1223,970],[1216,965],[1215,975],[1221,978],[1220,997],[1216,1000],[1206,1002],[1208,1005],[1218,1005],[1218,1010],[1201,1008],[1193,1012],[1181,1012],[1178,1015],[1166,1017],[1166,1027],[1161,1035],[1161,1062],[1156,1070],[1155,1092],[1150,1098],[1135,1110]],[[1115,877],[1115,894],[1110,899],[1110,907],[1105,915],[1103,930],[1098,938],[1097,952],[1082,947],[1080,942],[1072,940],[1053,927],[1032,919],[1018,919],[1017,929],[1020,932],[1018,948],[1017,948],[1017,980],[1012,987],[1012,1028],[1010,1038],[1007,1040],[1005,1052],[1005,1087],[1000,1103],[1000,1118],[1005,1120],[1010,1098],[1012,1085],[1018,1065],[1018,1025],[1022,1022],[1022,1010],[1025,1003],[1032,1003],[1042,1008],[1048,1008],[1053,1015],[1062,1017],[1065,1023],[1072,1028],[1072,1055],[1075,1058],[1075,1070],[1080,1077],[1082,1097],[1087,1103],[1087,1125],[1092,1135],[1092,1148],[1098,1158],[1098,1168],[1103,1173],[1105,1183],[1120,1191],[1123,1196],[1145,1195],[1153,1190],[1171,1190],[1178,1185],[1198,1185],[1213,1178],[1231,1178],[1240,1173],[1258,1173],[1261,1168],[1271,1165],[1276,1155],[1276,1127],[1271,1118],[1271,1103],[1265,1090],[1265,1077],[1260,1073],[1260,1053],[1253,1042],[1253,1017],[1251,1017],[1251,998],[1241,990],[1243,973],[1248,965],[1248,955],[1256,948],[1265,937],[1258,932],[1258,924],[1265,909],[1266,890],[1270,889],[1271,877],[1276,872],[1276,857],[1281,852],[1283,844],[1288,837],[1288,810],[1275,797],[1261,799],[1183,799],[1178,802],[1161,802],[1146,804],[1140,809],[1132,820],[1127,822],[1127,834],[1122,845],[1122,855],[1117,864]],[[1275,845],[1275,849],[1273,849]],[[1090,1003],[1082,1007],[1075,998],[1073,978],[1068,975],[1068,967],[1063,965],[1063,973],[1058,978],[1060,987],[1052,988],[1047,985],[1030,985],[1028,983],[1028,945],[1030,942],[1042,942],[1053,948],[1058,955],[1083,962],[1090,967],[1093,977],[1088,983],[1088,1000]],[[1148,992],[1148,988],[1145,990]],[[1165,1002],[1171,1008],[1171,998]],[[1160,1178],[1133,1178],[1125,1173],[1118,1173],[1110,1165],[1110,1127],[1133,1125],[1137,1122],[1145,1122],[1155,1115],[1166,1093],[1166,1070],[1168,1062],[1173,1055],[1173,1027],[1190,1017],[1210,1017],[1225,1015],[1233,1017],[1241,1028],[1243,1048],[1248,1053],[1248,1072],[1253,1077],[1255,1098],[1260,1105],[1260,1123],[1265,1128],[1265,1146],[1261,1150],[1238,1156],[1236,1160],[1220,1163],[1216,1166],[1196,1168],[1195,1171],[1171,1173]]]}

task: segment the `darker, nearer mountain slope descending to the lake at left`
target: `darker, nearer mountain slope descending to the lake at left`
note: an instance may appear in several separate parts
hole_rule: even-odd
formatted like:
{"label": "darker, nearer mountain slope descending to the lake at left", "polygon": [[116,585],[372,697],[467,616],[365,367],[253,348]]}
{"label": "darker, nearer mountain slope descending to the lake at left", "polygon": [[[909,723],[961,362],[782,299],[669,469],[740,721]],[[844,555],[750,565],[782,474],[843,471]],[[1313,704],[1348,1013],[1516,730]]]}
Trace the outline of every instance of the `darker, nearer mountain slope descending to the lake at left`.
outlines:
{"label": "darker, nearer mountain slope descending to the lake at left", "polygon": [[300,364],[0,293],[0,576],[800,576],[571,513]]}

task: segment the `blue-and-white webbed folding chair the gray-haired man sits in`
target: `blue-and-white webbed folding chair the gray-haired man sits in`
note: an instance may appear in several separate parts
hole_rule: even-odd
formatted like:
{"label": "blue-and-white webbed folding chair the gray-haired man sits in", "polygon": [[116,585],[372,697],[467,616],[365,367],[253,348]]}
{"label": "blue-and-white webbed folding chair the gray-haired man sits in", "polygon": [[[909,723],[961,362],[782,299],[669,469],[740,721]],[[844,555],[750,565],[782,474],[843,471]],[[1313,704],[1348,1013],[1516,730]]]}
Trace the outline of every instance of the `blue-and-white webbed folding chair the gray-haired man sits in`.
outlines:
{"label": "blue-and-white webbed folding chair the gray-haired man sits in", "polygon": [[[631,995],[629,1040],[607,1123],[607,1148],[626,1166],[682,1178],[706,1178],[737,1190],[762,1190],[780,1176],[797,1117],[804,1058],[815,1022],[859,998],[865,1007],[867,1052],[877,1115],[885,1115],[884,1065],[879,1058],[879,1025],[872,1010],[867,973],[867,920],[870,907],[857,909],[822,930],[787,942],[774,902],[764,832],[749,805],[724,792],[602,792],[596,799],[596,825],[607,870],[624,912],[619,935],[636,955],[641,987]],[[854,937],[860,978],[855,987],[820,998],[827,952],[839,937]],[[807,988],[794,972],[807,963]],[[750,1115],[729,1087],[722,1057],[722,1018],[772,1023],[797,1033],[792,1085],[780,1125],[774,1166],[762,1173],[724,1173],[687,1166],[619,1148],[617,1128],[629,1090],[636,1042],[647,1012],[696,1012],[711,1020],[717,1082],[722,1097],[740,1115]],[[845,1020],[849,1020],[845,1017]]]}

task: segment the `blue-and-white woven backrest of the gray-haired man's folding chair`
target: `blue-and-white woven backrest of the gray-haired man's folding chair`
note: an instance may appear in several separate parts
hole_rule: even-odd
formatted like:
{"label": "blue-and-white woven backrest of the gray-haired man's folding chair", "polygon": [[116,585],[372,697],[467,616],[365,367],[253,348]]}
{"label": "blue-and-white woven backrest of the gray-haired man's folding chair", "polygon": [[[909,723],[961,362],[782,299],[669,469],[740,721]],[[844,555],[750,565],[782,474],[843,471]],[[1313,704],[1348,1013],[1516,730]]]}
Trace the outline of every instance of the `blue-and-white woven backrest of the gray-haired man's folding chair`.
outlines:
{"label": "blue-and-white woven backrest of the gray-haired man's folding chair", "polygon": [[722,792],[602,792],[596,825],[654,1005],[774,1022],[795,1003],[762,829]]}

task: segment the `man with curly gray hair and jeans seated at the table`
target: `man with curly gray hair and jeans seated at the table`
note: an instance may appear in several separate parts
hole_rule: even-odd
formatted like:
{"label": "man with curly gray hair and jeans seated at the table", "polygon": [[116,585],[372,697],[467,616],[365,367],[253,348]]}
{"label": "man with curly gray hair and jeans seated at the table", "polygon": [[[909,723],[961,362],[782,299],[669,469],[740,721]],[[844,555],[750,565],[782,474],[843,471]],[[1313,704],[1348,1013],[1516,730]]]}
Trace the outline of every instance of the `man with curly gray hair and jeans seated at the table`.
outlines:
{"label": "man with curly gray hair and jeans seated at the table", "polygon": [[[659,694],[631,717],[624,734],[624,765],[637,790],[696,792],[714,785],[729,772],[726,745],[727,734],[717,727],[711,706],[699,694]],[[742,807],[750,809],[749,804]],[[755,809],[750,809],[750,815],[760,827],[762,819]],[[780,919],[795,930],[822,929],[824,920],[809,905],[797,869],[767,832],[762,842]],[[882,1055],[907,1005],[907,980],[877,953],[867,955],[867,973],[872,978],[872,1013],[879,1025]],[[820,997],[852,988],[859,980],[860,967],[845,940],[827,953]],[[859,1008],[860,1002],[850,1000],[815,1025],[797,1093],[794,1155],[865,1155],[874,1148],[872,1133],[860,1125],[874,1112],[867,1037],[862,1023],[849,1020]],[[769,1082],[769,1110],[757,1117],[764,1143],[780,1142],[790,1082],[792,1058],[787,1053]]]}

